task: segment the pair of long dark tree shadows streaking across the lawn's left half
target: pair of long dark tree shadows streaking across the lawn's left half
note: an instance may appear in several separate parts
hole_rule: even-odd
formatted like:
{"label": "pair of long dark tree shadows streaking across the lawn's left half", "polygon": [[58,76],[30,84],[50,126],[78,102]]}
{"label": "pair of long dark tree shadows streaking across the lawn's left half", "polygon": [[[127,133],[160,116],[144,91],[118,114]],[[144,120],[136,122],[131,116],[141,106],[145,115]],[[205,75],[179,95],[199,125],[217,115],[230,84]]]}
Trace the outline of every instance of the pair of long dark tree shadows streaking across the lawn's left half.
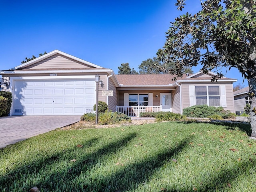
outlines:
{"label": "pair of long dark tree shadows streaking across the lawn's left half", "polygon": [[[81,143],[83,145],[82,148],[73,146],[70,148],[64,148],[64,151],[48,153],[48,156],[44,158],[35,157],[33,162],[26,162],[26,165],[19,165],[14,170],[8,172],[8,175],[0,177],[0,183],[3,183],[2,188],[6,188],[6,191],[9,191],[14,187],[14,183],[17,183],[17,181],[20,180],[24,180],[24,176],[31,177],[33,174],[36,175],[40,173],[45,174],[43,176],[43,180],[39,179],[39,182],[36,181],[34,184],[29,182],[29,184],[23,184],[23,186],[21,184],[19,190],[28,191],[34,186],[38,186],[38,188],[42,189],[41,192],[58,190],[58,188],[61,187],[57,184],[59,181],[62,181],[63,183],[66,183],[66,185],[71,186],[72,180],[78,174],[80,174],[82,170],[87,169],[88,167],[92,167],[93,165],[100,162],[100,160],[104,161],[106,158],[108,158],[109,154],[116,153],[118,150],[125,147],[126,144],[135,137],[136,133],[128,134],[119,140],[115,140],[114,142],[110,142],[109,144],[102,146],[96,152],[88,153],[86,152],[86,147],[92,146],[99,140],[99,138],[92,138],[91,140]],[[74,158],[74,154],[79,154],[79,152],[76,153],[76,150],[84,150],[85,155],[82,157],[78,156],[79,160],[77,160],[75,164],[71,162],[71,166],[65,167],[65,169],[59,168],[59,170],[56,171],[56,169],[58,169],[56,166],[58,166],[60,161],[70,162],[70,160]],[[45,173],[46,167],[48,167],[50,171],[53,170],[52,173]],[[33,180],[33,178],[31,180]],[[70,189],[69,191],[73,190]]]}

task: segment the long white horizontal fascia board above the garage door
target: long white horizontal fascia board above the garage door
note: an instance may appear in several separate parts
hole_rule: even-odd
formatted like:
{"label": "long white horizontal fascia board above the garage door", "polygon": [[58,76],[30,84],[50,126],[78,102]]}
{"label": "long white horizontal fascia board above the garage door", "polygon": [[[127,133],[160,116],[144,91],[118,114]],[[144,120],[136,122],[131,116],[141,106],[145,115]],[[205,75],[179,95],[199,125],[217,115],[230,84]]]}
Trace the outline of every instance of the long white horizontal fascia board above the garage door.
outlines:
{"label": "long white horizontal fascia board above the garage door", "polygon": [[111,69],[92,69],[92,70],[38,70],[38,71],[0,71],[0,74],[42,74],[42,73],[94,73],[110,72]]}

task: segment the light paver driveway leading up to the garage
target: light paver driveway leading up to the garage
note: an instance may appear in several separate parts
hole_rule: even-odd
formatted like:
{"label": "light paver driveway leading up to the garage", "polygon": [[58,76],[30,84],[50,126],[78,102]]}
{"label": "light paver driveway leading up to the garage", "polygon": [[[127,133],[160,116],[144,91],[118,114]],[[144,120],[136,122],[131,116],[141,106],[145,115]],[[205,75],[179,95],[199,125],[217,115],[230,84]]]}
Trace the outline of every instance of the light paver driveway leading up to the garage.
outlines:
{"label": "light paver driveway leading up to the garage", "polygon": [[0,148],[80,121],[80,116],[0,117]]}

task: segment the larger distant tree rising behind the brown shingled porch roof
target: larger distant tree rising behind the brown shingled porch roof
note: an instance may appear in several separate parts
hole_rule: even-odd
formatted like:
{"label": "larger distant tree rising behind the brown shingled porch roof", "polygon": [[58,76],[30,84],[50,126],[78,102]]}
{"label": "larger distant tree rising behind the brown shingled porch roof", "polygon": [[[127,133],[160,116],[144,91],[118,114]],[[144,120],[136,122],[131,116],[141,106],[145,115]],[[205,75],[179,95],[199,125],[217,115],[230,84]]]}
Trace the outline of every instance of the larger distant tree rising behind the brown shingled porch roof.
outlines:
{"label": "larger distant tree rising behind the brown shingled porch roof", "polygon": [[[138,66],[140,74],[168,74],[169,71],[175,70],[175,63],[171,62],[160,62],[158,58],[148,58],[142,61]],[[160,70],[161,69],[161,70]],[[183,68],[182,73],[193,73],[191,68]]]}

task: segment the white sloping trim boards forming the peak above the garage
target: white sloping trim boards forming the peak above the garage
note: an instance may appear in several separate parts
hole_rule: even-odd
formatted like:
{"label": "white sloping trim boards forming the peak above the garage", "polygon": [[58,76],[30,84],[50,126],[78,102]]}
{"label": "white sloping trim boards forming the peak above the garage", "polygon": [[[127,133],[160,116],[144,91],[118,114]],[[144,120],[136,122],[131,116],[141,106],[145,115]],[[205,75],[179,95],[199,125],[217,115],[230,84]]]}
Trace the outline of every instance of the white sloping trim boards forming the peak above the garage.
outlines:
{"label": "white sloping trim boards forming the peak above the garage", "polygon": [[44,54],[44,55],[42,55],[42,56],[40,56],[40,57],[38,57],[38,58],[35,58],[35,59],[33,59],[33,60],[29,61],[29,62],[26,62],[26,63],[24,63],[24,64],[21,64],[21,65],[19,65],[19,66],[16,66],[16,67],[14,67],[14,68],[12,68],[12,69],[10,69],[10,70],[18,70],[18,69],[22,69],[22,68],[28,67],[28,66],[30,66],[30,65],[32,65],[32,64],[35,64],[35,63],[37,63],[37,62],[40,62],[40,61],[42,61],[42,60],[44,60],[44,59],[46,59],[46,58],[49,58],[49,57],[51,57],[51,56],[54,56],[54,55],[56,55],[56,54],[60,54],[60,55],[62,55],[62,56],[65,56],[65,57],[67,57],[67,58],[70,58],[70,59],[72,59],[72,60],[75,60],[75,61],[77,61],[77,62],[80,62],[80,63],[82,63],[82,64],[86,64],[86,65],[88,65],[88,66],[91,66],[91,67],[93,67],[93,68],[102,68],[101,66],[92,64],[92,63],[90,63],[90,62],[88,62],[88,61],[85,61],[85,60],[82,60],[82,59],[80,59],[80,58],[74,57],[74,56],[72,56],[72,55],[70,55],[70,54],[66,54],[66,53],[64,53],[64,52],[62,52],[62,51],[59,51],[59,50],[54,50],[54,51],[52,51],[52,52],[50,52],[50,53],[47,53],[47,54]]}

